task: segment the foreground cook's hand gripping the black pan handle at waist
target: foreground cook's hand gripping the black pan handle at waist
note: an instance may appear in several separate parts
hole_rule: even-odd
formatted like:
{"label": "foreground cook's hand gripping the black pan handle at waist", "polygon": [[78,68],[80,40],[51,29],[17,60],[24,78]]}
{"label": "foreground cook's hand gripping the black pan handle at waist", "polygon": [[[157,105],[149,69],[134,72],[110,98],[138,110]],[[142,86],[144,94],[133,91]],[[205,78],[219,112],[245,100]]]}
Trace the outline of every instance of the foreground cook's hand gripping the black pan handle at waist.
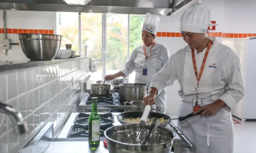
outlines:
{"label": "foreground cook's hand gripping the black pan handle at waist", "polygon": [[210,116],[210,115],[214,115],[216,114],[221,108],[227,106],[226,103],[224,103],[224,101],[218,99],[216,100],[214,103],[205,105],[203,107],[201,107],[200,109],[198,109],[194,114],[197,114],[200,111],[203,111],[201,113],[201,116],[205,115],[205,116]]}

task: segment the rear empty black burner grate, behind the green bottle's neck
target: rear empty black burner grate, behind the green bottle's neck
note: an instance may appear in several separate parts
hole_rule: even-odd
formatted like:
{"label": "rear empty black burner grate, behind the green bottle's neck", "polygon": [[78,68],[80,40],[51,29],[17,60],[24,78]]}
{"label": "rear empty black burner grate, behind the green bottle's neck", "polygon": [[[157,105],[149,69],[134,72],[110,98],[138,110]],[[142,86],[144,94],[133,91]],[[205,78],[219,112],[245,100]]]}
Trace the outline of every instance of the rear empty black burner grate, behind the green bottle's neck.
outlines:
{"label": "rear empty black burner grate, behind the green bottle's neck", "polygon": [[[88,124],[89,121],[89,115],[90,114],[86,114],[86,113],[79,113],[75,120],[74,123],[79,123],[79,124]],[[115,118],[113,116],[112,113],[104,113],[104,114],[99,114],[100,115],[100,123],[114,123],[115,122]]]}

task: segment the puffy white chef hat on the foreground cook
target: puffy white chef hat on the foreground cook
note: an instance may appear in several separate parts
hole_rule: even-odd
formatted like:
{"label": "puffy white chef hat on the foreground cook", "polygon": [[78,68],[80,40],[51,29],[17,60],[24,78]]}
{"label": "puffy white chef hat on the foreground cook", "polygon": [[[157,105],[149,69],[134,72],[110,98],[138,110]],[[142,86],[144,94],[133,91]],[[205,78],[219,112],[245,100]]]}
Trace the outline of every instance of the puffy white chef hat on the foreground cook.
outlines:
{"label": "puffy white chef hat on the foreground cook", "polygon": [[204,4],[191,4],[180,17],[180,31],[206,33],[210,23],[210,10]]}

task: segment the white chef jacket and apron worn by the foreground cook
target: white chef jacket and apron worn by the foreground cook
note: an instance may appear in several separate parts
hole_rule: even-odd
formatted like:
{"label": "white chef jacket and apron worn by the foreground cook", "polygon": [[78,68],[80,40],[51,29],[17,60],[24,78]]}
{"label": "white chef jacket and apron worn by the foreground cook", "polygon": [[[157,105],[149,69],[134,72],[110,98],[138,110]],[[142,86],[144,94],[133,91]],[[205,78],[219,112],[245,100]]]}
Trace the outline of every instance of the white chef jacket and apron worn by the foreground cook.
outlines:
{"label": "white chef jacket and apron worn by the foreground cook", "polygon": [[[236,107],[239,100],[243,98],[245,90],[239,58],[231,48],[219,43],[214,37],[210,37],[210,40],[214,43],[209,50],[199,82],[198,97],[202,98],[204,105],[221,99],[227,107],[222,108],[215,115],[194,116],[184,122],[178,122],[178,125],[184,134],[197,145],[197,153],[230,153],[233,149],[233,124],[230,109]],[[206,48],[202,53],[195,54],[198,71],[205,52]],[[197,87],[191,49],[188,45],[168,59],[164,67],[154,75],[150,87],[155,87],[160,92],[166,86],[171,86],[175,80],[180,83],[179,95],[183,102],[178,115],[185,116],[193,112],[193,98],[196,98],[195,88]],[[211,145],[210,142],[212,142]]]}

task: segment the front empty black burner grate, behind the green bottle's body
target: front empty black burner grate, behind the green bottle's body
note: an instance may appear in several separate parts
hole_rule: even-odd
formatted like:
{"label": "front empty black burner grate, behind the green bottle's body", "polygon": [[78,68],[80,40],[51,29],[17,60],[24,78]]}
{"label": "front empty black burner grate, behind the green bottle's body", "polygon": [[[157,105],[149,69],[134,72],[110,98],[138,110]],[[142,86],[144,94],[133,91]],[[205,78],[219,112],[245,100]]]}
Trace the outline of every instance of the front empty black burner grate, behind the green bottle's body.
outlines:
{"label": "front empty black burner grate, behind the green bottle's body", "polygon": [[[100,125],[100,137],[105,137],[104,131],[111,126],[113,126],[112,123]],[[76,137],[89,137],[88,124],[75,123],[74,125],[71,126],[70,131],[67,135],[67,138],[76,138]]]}

